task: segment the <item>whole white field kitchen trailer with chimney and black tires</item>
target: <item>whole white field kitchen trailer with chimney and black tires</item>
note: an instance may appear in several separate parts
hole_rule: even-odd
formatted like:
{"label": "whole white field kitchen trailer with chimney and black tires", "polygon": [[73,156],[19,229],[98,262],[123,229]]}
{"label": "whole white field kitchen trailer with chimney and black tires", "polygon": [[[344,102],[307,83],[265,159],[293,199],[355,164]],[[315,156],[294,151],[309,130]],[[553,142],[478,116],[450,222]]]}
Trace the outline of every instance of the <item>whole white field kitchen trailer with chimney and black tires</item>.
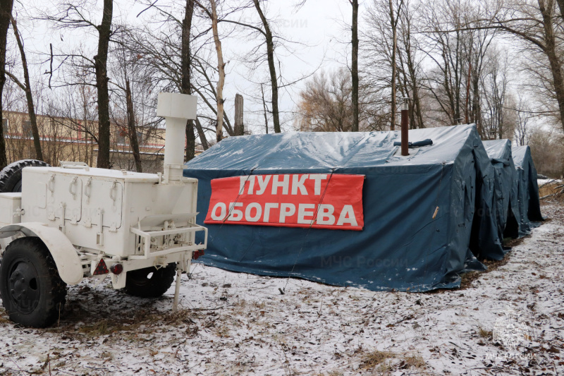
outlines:
{"label": "whole white field kitchen trailer with chimney and black tires", "polygon": [[159,93],[157,116],[166,119],[162,174],[38,161],[0,174],[0,186],[21,188],[0,193],[0,296],[11,320],[51,325],[66,285],[85,277],[111,277],[114,289],[157,297],[176,274],[176,310],[180,275],[207,246],[207,229],[195,223],[197,179],[183,177],[185,124],[196,119],[196,97]]}

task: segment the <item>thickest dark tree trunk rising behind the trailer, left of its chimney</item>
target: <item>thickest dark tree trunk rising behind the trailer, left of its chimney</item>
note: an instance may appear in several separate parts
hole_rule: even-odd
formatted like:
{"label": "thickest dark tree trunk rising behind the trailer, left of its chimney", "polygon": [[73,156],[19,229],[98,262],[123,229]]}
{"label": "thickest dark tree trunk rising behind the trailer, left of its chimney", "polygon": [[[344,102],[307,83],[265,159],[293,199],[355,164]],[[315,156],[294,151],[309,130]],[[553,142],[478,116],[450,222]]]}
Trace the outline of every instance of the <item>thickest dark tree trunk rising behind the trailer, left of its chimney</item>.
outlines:
{"label": "thickest dark tree trunk rising behind the trailer, left of its chimney", "polygon": [[113,0],[104,0],[104,14],[98,29],[98,54],[94,56],[96,88],[98,91],[98,159],[97,167],[109,169],[110,165],[110,108],[108,91],[108,45],[111,36]]}

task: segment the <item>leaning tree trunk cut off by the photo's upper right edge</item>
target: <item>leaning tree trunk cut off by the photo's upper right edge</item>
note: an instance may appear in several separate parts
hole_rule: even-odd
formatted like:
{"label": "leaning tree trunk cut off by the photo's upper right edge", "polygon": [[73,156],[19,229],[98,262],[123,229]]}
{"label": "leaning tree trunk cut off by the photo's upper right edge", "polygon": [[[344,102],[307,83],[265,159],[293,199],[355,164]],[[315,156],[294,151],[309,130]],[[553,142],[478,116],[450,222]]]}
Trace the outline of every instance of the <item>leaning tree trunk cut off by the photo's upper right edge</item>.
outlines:
{"label": "leaning tree trunk cut off by the photo's upper right edge", "polygon": [[544,52],[548,57],[548,63],[551,66],[551,73],[554,80],[554,92],[556,94],[556,101],[558,102],[558,109],[560,110],[560,124],[564,128],[564,78],[562,76],[562,66],[558,59],[556,52],[556,37],[554,35],[553,27],[553,0],[548,0],[545,6],[544,0],[539,1],[539,9],[544,21]]}

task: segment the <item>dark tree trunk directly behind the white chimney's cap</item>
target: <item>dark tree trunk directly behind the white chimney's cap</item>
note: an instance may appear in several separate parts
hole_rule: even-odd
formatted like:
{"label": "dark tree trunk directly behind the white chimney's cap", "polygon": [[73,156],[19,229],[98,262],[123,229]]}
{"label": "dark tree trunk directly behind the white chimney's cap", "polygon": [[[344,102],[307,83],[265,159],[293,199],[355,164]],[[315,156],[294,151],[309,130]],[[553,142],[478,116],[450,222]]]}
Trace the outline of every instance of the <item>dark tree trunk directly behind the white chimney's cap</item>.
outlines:
{"label": "dark tree trunk directly behind the white chimney's cap", "polygon": [[[183,94],[192,94],[192,83],[190,79],[190,68],[192,66],[192,54],[190,54],[190,30],[192,29],[192,16],[194,15],[194,0],[186,0],[186,9],[182,21],[182,56],[180,61],[180,86]],[[186,157],[188,162],[194,158],[196,148],[196,136],[194,134],[194,121],[186,121]]]}

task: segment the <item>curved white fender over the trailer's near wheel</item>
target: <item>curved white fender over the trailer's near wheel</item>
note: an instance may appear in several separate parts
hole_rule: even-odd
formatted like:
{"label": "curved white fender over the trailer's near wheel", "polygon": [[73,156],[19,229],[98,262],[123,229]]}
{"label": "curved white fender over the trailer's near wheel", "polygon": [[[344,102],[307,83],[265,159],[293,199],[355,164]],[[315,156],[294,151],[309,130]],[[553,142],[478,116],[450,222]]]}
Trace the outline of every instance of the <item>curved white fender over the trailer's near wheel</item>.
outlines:
{"label": "curved white fender over the trailer's near wheel", "polygon": [[76,248],[59,229],[40,222],[10,224],[0,229],[0,238],[8,238],[18,233],[37,236],[43,241],[55,261],[59,276],[66,284],[73,285],[82,281],[82,265]]}

